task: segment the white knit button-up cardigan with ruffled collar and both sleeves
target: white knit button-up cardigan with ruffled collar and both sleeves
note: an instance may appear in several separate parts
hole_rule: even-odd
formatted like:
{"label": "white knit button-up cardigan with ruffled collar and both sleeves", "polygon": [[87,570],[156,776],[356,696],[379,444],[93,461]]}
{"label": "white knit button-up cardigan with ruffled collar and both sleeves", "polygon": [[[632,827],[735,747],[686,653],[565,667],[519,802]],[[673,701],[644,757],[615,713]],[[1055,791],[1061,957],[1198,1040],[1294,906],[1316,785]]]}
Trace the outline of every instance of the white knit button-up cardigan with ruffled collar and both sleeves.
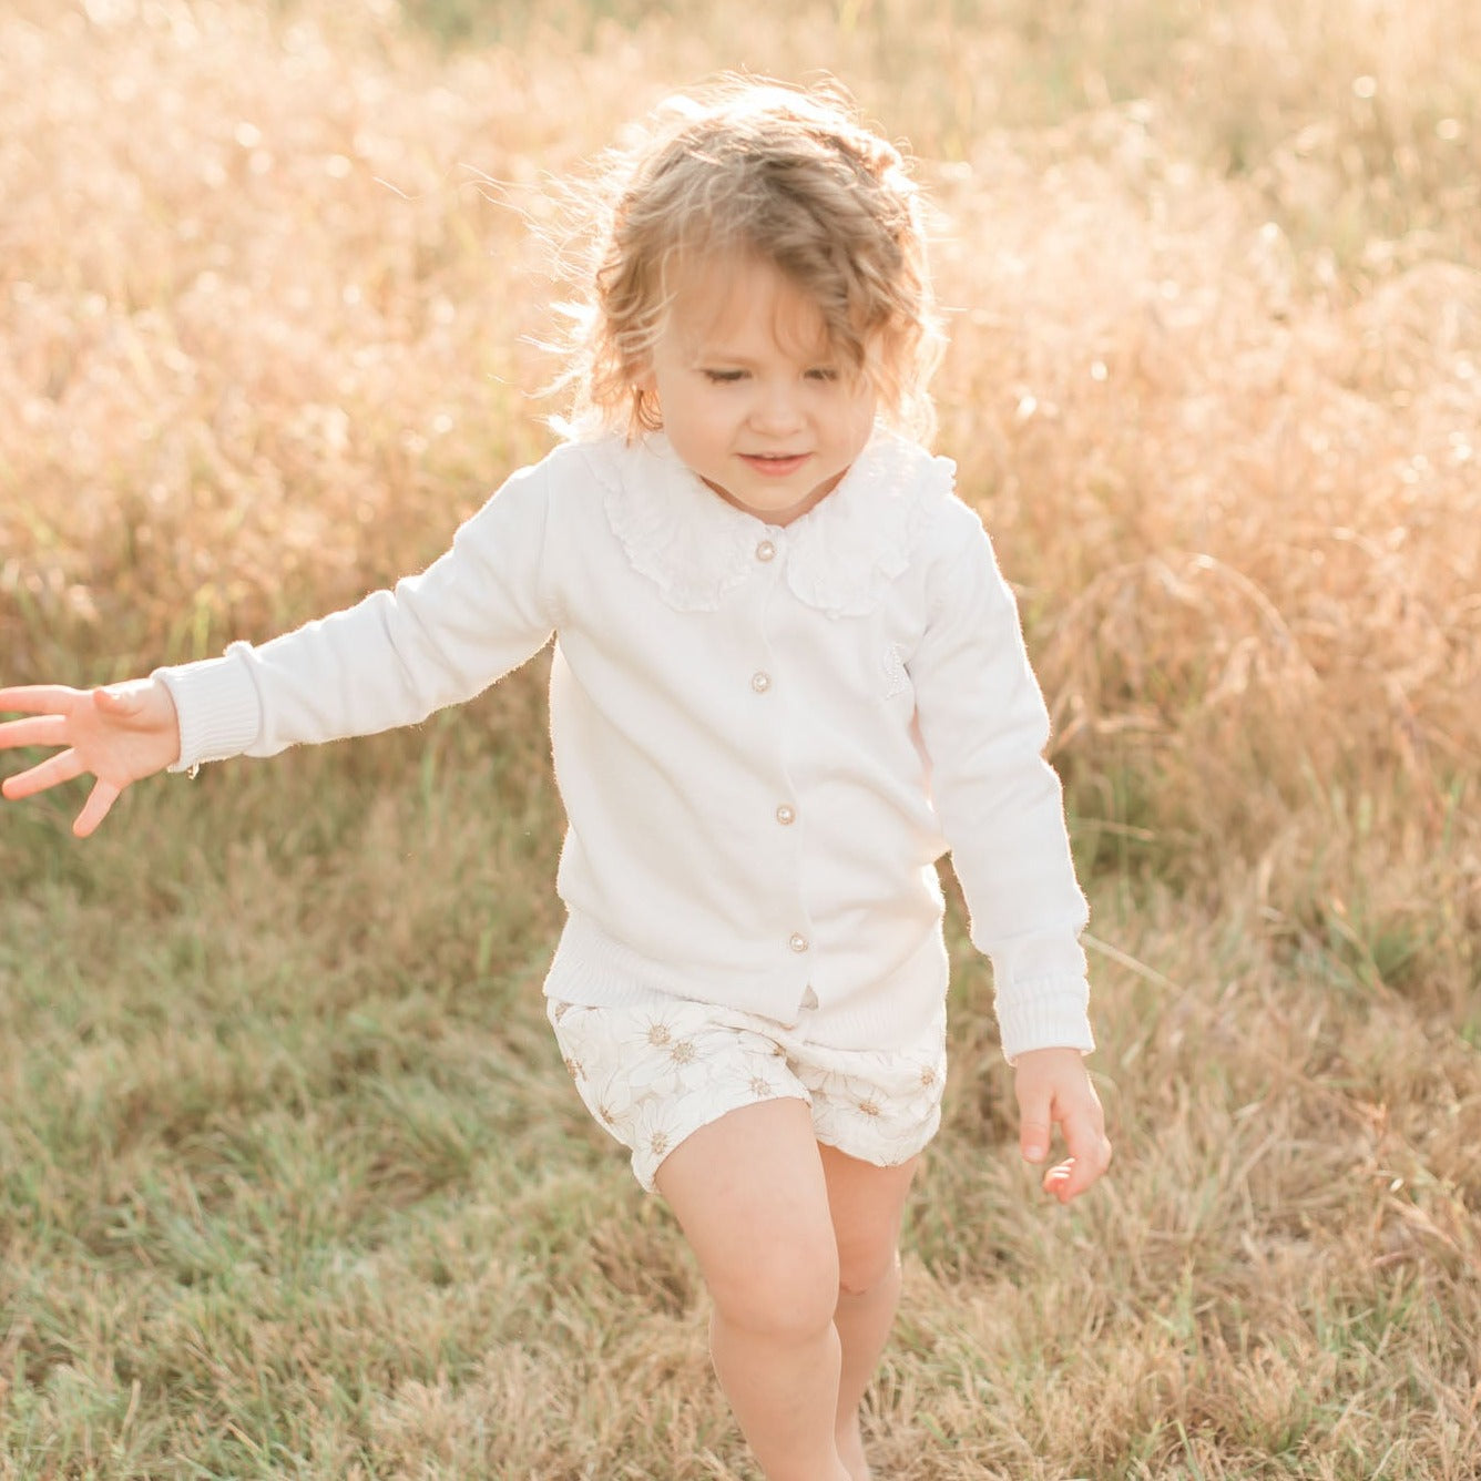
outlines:
{"label": "white knit button-up cardigan with ruffled collar and both sleeves", "polygon": [[662,437],[567,443],[394,589],[160,669],[178,769],[459,703],[555,634],[546,992],[659,989],[889,1049],[946,986],[949,849],[1004,1053],[1091,1047],[1086,902],[1013,595],[954,465],[880,429],[786,527]]}

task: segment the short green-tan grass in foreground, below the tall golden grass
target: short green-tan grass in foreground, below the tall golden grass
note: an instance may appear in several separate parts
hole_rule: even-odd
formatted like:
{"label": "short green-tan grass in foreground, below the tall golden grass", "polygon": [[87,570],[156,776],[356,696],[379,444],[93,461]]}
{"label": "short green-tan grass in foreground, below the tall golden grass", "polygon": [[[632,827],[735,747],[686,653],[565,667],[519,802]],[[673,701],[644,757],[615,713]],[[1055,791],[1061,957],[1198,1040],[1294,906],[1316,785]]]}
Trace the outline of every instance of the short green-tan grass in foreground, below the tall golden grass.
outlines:
{"label": "short green-tan grass in foreground, below the tall golden grass", "polygon": [[[692,1262],[544,1025],[549,780],[481,764],[538,720],[521,680],[150,783],[81,847],[7,810],[4,1474],[749,1474]],[[1121,1161],[1071,1211],[954,912],[884,1474],[1463,1474],[1472,1059],[1383,1000],[1339,1035],[1277,940],[1155,887],[1096,903]]]}

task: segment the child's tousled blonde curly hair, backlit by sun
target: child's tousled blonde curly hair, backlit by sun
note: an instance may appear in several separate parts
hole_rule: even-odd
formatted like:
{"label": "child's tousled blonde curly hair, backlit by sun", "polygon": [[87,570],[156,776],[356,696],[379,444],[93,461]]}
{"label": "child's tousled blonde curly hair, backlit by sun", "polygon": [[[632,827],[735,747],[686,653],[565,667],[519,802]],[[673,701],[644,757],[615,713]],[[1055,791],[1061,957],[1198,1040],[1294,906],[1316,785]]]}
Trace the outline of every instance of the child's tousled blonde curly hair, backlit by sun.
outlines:
{"label": "child's tousled blonde curly hair, backlit by sun", "polygon": [[886,422],[930,435],[942,336],[921,200],[900,151],[837,84],[726,76],[662,104],[607,164],[561,378],[578,425],[629,438],[662,427],[643,382],[680,277],[740,255],[818,308]]}

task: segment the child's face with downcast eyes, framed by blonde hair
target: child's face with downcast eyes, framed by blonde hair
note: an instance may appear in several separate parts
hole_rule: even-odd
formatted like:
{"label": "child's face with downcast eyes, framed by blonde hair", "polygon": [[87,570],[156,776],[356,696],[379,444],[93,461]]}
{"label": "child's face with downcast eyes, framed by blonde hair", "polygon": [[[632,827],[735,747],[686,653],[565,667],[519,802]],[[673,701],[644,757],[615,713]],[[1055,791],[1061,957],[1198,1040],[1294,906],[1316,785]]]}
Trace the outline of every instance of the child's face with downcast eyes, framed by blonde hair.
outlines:
{"label": "child's face with downcast eyes, framed by blonde hair", "polygon": [[813,304],[752,258],[726,259],[678,295],[644,390],[689,468],[767,524],[823,499],[874,425],[868,378],[834,354]]}

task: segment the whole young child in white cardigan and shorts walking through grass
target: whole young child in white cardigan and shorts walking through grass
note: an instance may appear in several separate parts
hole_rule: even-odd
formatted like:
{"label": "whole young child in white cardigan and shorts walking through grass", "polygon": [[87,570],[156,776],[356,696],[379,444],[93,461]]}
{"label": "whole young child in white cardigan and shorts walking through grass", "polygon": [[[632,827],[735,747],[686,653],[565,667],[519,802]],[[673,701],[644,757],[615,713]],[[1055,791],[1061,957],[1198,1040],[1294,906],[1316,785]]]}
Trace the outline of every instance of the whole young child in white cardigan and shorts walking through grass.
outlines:
{"label": "whole young child in white cardigan and shorts walking through grass", "polygon": [[1022,1152],[1111,1146],[1086,905],[1013,597],[929,424],[936,333],[899,154],[834,95],[727,80],[618,176],[567,441],[419,576],[261,647],[0,692],[28,797],[413,724],[555,635],[566,1065],[690,1240],[770,1481],[869,1475],[859,1404],[940,1120],[949,850],[994,963]]}

